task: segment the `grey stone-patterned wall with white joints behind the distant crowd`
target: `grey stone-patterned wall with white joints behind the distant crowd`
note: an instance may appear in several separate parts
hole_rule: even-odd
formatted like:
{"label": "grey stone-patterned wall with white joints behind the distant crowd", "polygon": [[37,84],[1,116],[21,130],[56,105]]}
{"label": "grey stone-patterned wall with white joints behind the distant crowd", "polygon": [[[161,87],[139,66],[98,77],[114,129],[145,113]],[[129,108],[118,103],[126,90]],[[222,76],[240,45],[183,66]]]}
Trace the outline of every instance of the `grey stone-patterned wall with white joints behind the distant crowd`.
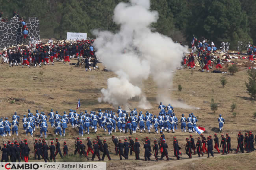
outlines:
{"label": "grey stone-patterned wall with white joints behind the distant crowd", "polygon": [[[40,38],[39,20],[37,17],[28,18],[25,20],[28,28],[28,38]],[[17,46],[25,44],[22,35],[22,26],[19,19],[10,19],[8,22],[0,22],[0,49],[9,46]]]}

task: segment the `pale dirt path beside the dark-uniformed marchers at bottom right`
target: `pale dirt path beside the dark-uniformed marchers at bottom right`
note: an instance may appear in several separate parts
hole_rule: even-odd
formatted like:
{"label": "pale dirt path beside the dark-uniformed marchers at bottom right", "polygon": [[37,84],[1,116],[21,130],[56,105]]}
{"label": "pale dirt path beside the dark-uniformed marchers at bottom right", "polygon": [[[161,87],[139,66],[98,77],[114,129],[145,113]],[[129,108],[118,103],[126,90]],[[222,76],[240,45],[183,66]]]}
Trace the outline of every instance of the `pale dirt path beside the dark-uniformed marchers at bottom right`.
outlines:
{"label": "pale dirt path beside the dark-uniformed marchers at bottom right", "polygon": [[[143,166],[143,167],[136,167],[136,170],[156,170],[156,169],[165,169],[165,168],[173,168],[175,166],[179,166],[182,164],[186,164],[189,163],[191,161],[196,161],[196,160],[200,160],[200,159],[212,159],[212,157],[207,158],[207,154],[204,154],[206,156],[204,157],[193,157],[192,159],[188,159],[187,157],[181,157],[182,159],[180,160],[176,160],[176,157],[169,157],[171,158],[171,160],[175,160],[175,161],[160,161],[160,162],[156,162],[155,165],[148,165],[148,166]],[[237,154],[227,154],[227,155],[220,155],[220,154],[214,154],[214,157],[220,157],[220,156],[235,156]],[[166,159],[166,158],[165,158]]]}

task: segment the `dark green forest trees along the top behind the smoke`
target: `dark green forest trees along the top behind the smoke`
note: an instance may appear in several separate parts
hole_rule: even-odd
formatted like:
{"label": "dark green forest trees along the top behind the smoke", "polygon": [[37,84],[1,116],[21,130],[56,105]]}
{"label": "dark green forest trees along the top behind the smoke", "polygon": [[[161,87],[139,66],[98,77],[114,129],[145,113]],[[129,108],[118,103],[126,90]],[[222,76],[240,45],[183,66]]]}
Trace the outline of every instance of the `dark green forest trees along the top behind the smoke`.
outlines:
{"label": "dark green forest trees along the top behind the smoke", "polygon": [[[85,32],[95,37],[94,29],[117,31],[113,9],[128,0],[0,0],[3,18],[13,10],[25,18],[37,16],[42,38],[66,38],[67,32]],[[159,13],[154,31],[190,44],[192,35],[230,42],[256,42],[256,1],[254,0],[151,0],[151,9]]]}

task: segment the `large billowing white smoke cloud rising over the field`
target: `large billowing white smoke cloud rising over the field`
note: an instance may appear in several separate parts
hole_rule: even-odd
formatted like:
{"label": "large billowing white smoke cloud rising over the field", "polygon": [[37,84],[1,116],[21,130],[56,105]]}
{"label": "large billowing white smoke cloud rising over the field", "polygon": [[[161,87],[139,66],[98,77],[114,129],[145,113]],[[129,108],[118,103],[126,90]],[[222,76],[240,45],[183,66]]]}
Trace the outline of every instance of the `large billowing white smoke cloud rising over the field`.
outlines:
{"label": "large billowing white smoke cloud rising over the field", "polygon": [[101,31],[94,43],[99,60],[117,74],[108,79],[108,88],[101,90],[99,102],[126,104],[132,97],[139,96],[139,107],[150,108],[140,88],[150,75],[161,89],[158,99],[170,99],[164,89],[172,86],[174,71],[180,66],[187,47],[152,32],[150,24],[157,20],[158,12],[150,11],[150,0],[130,0],[115,7],[113,21],[120,25],[120,31]]}

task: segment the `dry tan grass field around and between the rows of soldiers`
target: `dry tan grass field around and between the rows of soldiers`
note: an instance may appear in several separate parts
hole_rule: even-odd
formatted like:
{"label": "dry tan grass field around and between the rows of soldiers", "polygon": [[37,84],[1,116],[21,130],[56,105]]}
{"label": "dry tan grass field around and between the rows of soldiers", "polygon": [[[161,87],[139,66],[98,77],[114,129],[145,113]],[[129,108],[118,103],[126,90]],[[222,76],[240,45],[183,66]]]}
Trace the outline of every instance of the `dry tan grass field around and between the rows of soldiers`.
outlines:
{"label": "dry tan grass field around and between the rows of soldiers", "polygon": [[[76,60],[72,60],[72,62],[76,62]],[[99,64],[102,69],[103,66]],[[71,67],[73,67],[72,71],[70,71]],[[14,112],[17,112],[18,115],[22,118],[23,114],[27,114],[27,110],[32,110],[32,113],[35,113],[35,110],[45,111],[46,113],[50,112],[50,109],[54,109],[54,111],[58,110],[59,113],[63,113],[63,111],[68,111],[70,108],[75,109],[78,101],[78,97],[81,102],[81,111],[84,110],[98,110],[101,108],[102,110],[116,110],[110,104],[102,104],[98,103],[97,98],[100,97],[101,88],[106,88],[106,80],[109,77],[115,76],[112,72],[104,72],[101,69],[85,72],[84,68],[76,68],[74,66],[64,65],[61,62],[55,62],[54,66],[42,66],[41,68],[21,68],[21,67],[13,67],[9,68],[7,64],[0,64],[0,108],[1,108],[1,117],[8,116],[9,118],[13,115]],[[197,67],[198,69],[198,67]],[[198,125],[206,128],[205,135],[212,135],[215,133],[216,129],[218,129],[218,122],[216,117],[221,113],[226,120],[226,124],[224,124],[223,133],[230,133],[232,139],[232,148],[236,148],[236,134],[238,131],[242,131],[242,133],[248,132],[250,130],[255,134],[255,117],[253,113],[256,110],[255,102],[252,102],[249,98],[249,95],[246,91],[245,81],[247,80],[247,73],[245,68],[239,68],[239,72],[236,73],[235,76],[224,75],[227,79],[227,84],[225,88],[222,88],[220,83],[220,78],[223,74],[216,73],[201,73],[199,71],[191,71],[186,70],[177,70],[176,75],[174,76],[173,87],[175,89],[166,89],[167,91],[171,91],[172,98],[174,100],[182,100],[191,106],[199,107],[199,110],[193,109],[183,109],[183,108],[174,108],[176,116],[180,119],[181,114],[185,113],[187,116],[188,113],[193,112],[198,117]],[[40,71],[43,74],[40,74]],[[153,108],[148,110],[150,113],[157,114],[158,113],[158,105],[157,105],[157,89],[156,84],[153,82],[151,78],[144,81],[145,88],[143,92],[147,95],[148,101],[152,104]],[[178,84],[182,84],[182,91],[178,91]],[[26,98],[26,101],[15,101],[14,103],[10,102],[10,99],[14,98]],[[217,113],[213,114],[210,109],[211,98],[218,103]],[[236,108],[236,117],[232,115],[230,112],[230,105],[232,103],[237,104]],[[129,101],[129,104],[132,107],[137,106],[137,99],[134,98]],[[138,108],[138,110],[141,110]],[[146,110],[142,110],[145,113]],[[20,135],[24,138],[24,131],[21,130],[21,126],[19,126]],[[55,135],[53,134],[53,129],[48,128],[48,139],[53,140]],[[69,154],[74,153],[74,138],[78,135],[77,129],[66,130],[68,132],[67,137],[65,137],[65,141],[67,141],[69,146]],[[22,133],[21,133],[22,132]],[[217,131],[216,131],[217,132]],[[182,159],[186,159],[187,155],[185,155],[184,148],[186,143],[186,137],[188,137],[191,133],[182,133],[180,131],[180,127],[176,133],[165,133],[165,138],[167,144],[169,145],[169,155],[171,155],[171,159],[175,160],[173,157],[173,136],[179,140],[180,147],[182,147],[181,152],[184,153],[182,155]],[[102,130],[98,130],[96,135],[102,135],[102,139],[107,139],[107,143],[109,146],[109,151],[111,152],[111,158],[113,160],[119,159],[118,156],[113,155],[114,147],[110,137],[107,133],[104,133]],[[96,137],[95,134],[90,134],[91,138]],[[124,139],[128,137],[130,134],[123,133],[113,133],[117,137]],[[197,134],[193,133],[194,138],[197,137]],[[139,140],[145,139],[148,136],[153,142],[154,137],[159,139],[159,134],[148,134],[148,133],[136,133],[132,135],[132,137],[139,138]],[[218,134],[220,137],[220,134]],[[39,131],[37,130],[35,133],[35,137],[39,137]],[[87,135],[84,135],[83,138],[86,138]],[[7,139],[12,140],[12,137],[7,137]],[[32,138],[27,137],[28,140],[32,144]],[[64,140],[61,138],[61,140]],[[85,140],[83,140],[85,143]],[[61,142],[62,145],[62,142]],[[142,145],[142,142],[141,142]],[[32,149],[33,150],[33,149]],[[33,151],[32,151],[33,153]],[[102,155],[102,153],[101,153]],[[144,150],[143,146],[141,147],[141,159],[144,158]],[[250,160],[250,157],[253,155],[244,154],[243,156],[237,155],[239,157],[240,162]],[[89,154],[91,157],[91,154]],[[196,157],[196,155],[193,155]],[[255,157],[255,154],[254,154]],[[130,156],[130,159],[135,159],[135,155]],[[153,159],[153,157],[151,157]],[[236,161],[237,158],[229,158],[227,157],[230,163],[232,161]],[[57,157],[59,159],[59,156]],[[217,161],[221,158],[214,158],[205,160],[203,169],[207,169],[206,167],[211,165],[219,165]],[[226,157],[225,157],[226,159]],[[78,159],[80,161],[80,159]],[[97,160],[97,159],[96,159]],[[105,161],[107,159],[105,158]],[[217,160],[217,161],[215,161]],[[85,161],[85,159],[84,159]],[[171,161],[172,162],[172,161]],[[171,163],[170,162],[170,163]],[[179,161],[182,164],[182,161]],[[128,165],[126,164],[128,163]],[[162,163],[162,162],[161,162]],[[195,168],[198,169],[200,160],[196,162]],[[203,164],[204,164],[203,163]],[[144,161],[108,161],[108,169],[135,169],[135,167],[141,166],[151,166],[155,165],[154,161],[150,161],[145,163]],[[229,164],[222,166],[228,169]],[[248,165],[248,164],[247,164]],[[186,165],[184,165],[186,166]],[[240,167],[240,166],[237,166]],[[226,169],[223,168],[223,169]],[[129,169],[129,170],[130,170]],[[182,169],[182,168],[176,168]],[[184,169],[184,168],[183,168]],[[246,169],[246,168],[245,168]],[[250,169],[248,166],[247,169]]]}

